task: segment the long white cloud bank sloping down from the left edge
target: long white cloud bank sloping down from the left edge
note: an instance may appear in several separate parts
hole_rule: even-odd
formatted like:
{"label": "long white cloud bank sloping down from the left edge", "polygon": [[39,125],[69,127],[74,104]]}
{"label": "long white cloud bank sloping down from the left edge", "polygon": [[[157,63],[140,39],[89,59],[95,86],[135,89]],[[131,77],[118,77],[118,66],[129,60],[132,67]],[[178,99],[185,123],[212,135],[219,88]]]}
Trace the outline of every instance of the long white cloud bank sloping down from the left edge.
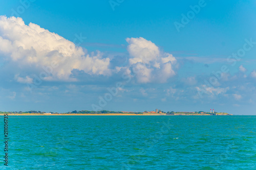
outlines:
{"label": "long white cloud bank sloping down from the left edge", "polygon": [[[40,26],[25,25],[22,18],[0,16],[0,54],[20,68],[33,65],[35,68],[51,67],[48,80],[69,80],[73,69],[90,75],[110,75],[110,59],[102,54],[86,54],[81,47]],[[49,69],[50,70],[50,69]],[[19,78],[26,82],[30,77]]]}

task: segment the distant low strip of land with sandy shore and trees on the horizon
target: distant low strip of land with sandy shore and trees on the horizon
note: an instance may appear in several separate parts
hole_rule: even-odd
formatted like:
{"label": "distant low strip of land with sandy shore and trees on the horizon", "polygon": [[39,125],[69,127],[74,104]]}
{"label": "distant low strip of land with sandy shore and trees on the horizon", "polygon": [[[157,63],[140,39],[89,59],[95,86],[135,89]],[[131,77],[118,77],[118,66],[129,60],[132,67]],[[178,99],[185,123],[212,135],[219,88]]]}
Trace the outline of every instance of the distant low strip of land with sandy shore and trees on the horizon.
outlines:
{"label": "distant low strip of land with sandy shore and trees on the horizon", "polygon": [[58,113],[58,112],[41,112],[41,111],[15,111],[15,112],[1,112],[0,115],[9,114],[9,115],[232,115],[225,112],[205,112],[205,111],[196,111],[196,112],[174,112],[167,111],[164,112],[162,110],[156,109],[155,111],[144,111],[144,112],[125,112],[125,111],[72,111],[66,113]]}

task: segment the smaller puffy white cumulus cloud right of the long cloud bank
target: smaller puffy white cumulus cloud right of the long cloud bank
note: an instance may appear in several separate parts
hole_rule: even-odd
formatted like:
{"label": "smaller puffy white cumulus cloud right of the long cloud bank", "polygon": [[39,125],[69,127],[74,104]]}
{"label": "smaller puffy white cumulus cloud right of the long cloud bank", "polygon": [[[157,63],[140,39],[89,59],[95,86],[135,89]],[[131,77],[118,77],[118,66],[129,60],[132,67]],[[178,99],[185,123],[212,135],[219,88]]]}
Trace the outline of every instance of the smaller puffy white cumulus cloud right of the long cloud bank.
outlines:
{"label": "smaller puffy white cumulus cloud right of the long cloud bank", "polygon": [[172,54],[161,52],[155,43],[142,37],[126,38],[126,41],[129,43],[130,69],[135,72],[139,83],[164,83],[176,75],[173,68],[176,59]]}

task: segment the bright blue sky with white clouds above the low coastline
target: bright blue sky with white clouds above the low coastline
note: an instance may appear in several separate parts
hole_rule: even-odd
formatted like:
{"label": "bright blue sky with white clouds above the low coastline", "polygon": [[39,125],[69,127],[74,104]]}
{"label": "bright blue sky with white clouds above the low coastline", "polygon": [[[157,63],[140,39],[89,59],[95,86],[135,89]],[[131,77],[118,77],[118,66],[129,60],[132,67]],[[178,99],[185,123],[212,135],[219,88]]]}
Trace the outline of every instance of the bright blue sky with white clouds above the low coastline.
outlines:
{"label": "bright blue sky with white clouds above the low coastline", "polygon": [[209,0],[2,2],[0,110],[256,114],[255,7]]}

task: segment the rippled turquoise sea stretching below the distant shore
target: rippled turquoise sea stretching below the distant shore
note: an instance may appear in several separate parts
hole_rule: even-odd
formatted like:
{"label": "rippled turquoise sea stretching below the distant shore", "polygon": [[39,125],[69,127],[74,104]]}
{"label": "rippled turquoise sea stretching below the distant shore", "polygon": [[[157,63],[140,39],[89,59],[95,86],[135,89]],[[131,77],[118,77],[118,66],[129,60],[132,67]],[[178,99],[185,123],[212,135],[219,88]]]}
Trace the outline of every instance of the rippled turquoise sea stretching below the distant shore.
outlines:
{"label": "rippled turquoise sea stretching below the distant shore", "polygon": [[0,169],[256,169],[256,116],[9,115],[8,135]]}

